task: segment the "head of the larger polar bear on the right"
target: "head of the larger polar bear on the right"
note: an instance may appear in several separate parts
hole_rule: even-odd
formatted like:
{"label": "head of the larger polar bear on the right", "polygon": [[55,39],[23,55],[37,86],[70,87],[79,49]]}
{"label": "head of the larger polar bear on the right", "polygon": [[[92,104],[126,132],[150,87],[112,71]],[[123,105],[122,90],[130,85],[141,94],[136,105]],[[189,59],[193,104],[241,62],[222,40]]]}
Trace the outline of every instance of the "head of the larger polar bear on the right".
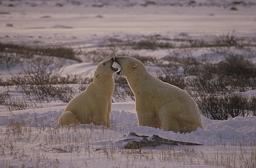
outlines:
{"label": "head of the larger polar bear on the right", "polygon": [[136,58],[132,58],[130,56],[118,56],[113,58],[115,62],[120,65],[120,71],[118,71],[118,75],[124,75],[126,77],[130,75],[135,75],[143,71],[147,71],[143,62],[137,60]]}

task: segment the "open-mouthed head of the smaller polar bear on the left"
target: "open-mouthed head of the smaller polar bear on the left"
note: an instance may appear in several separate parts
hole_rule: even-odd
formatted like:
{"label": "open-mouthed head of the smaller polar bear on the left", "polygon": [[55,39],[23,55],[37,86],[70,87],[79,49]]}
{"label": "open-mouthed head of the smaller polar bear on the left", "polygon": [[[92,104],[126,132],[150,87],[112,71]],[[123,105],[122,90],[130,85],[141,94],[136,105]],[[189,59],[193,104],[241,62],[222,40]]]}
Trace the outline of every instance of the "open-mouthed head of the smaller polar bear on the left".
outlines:
{"label": "open-mouthed head of the smaller polar bear on the left", "polygon": [[112,77],[118,68],[113,67],[113,58],[109,58],[107,60],[103,60],[97,65],[94,73],[94,79],[100,79],[105,77]]}

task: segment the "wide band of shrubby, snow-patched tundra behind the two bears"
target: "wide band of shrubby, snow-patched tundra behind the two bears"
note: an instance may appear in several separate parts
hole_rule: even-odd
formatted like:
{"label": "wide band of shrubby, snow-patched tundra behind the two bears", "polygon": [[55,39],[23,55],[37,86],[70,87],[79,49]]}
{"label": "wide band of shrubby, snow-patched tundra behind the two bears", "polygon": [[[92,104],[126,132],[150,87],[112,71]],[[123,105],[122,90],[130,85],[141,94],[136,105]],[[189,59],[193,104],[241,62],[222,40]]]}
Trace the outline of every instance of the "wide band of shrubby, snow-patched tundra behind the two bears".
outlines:
{"label": "wide band of shrubby, snow-patched tundra behind the two bears", "polygon": [[[213,120],[236,116],[255,116],[256,97],[246,91],[256,89],[254,38],[238,38],[233,33],[211,38],[168,38],[127,36],[103,38],[97,48],[75,50],[63,46],[26,46],[0,43],[0,66],[20,66],[18,74],[0,79],[0,85],[14,88],[1,93],[0,103],[7,110],[41,107],[51,101],[68,102],[92,81],[88,77],[62,75],[68,61],[95,62],[115,57],[132,56],[148,67],[157,68],[157,77],[190,93],[201,113]],[[140,50],[164,50],[164,56],[139,54]],[[197,54],[194,56],[194,54]],[[113,102],[134,100],[124,77],[115,77]]]}

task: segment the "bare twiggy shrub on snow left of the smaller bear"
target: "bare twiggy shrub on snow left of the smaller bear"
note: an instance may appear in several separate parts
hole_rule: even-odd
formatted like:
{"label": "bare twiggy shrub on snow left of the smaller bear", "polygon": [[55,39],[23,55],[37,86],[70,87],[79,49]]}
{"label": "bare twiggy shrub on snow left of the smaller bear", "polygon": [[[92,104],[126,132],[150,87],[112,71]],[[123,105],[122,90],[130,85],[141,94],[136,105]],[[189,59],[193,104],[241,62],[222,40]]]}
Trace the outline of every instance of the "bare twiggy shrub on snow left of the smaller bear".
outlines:
{"label": "bare twiggy shrub on snow left of the smaller bear", "polygon": [[67,85],[78,82],[78,76],[61,76],[63,63],[55,62],[53,57],[36,57],[29,59],[28,66],[22,67],[18,75],[12,75],[7,83],[12,83],[16,89],[24,93],[29,101],[49,102],[60,99],[68,102],[75,94],[74,89]]}

